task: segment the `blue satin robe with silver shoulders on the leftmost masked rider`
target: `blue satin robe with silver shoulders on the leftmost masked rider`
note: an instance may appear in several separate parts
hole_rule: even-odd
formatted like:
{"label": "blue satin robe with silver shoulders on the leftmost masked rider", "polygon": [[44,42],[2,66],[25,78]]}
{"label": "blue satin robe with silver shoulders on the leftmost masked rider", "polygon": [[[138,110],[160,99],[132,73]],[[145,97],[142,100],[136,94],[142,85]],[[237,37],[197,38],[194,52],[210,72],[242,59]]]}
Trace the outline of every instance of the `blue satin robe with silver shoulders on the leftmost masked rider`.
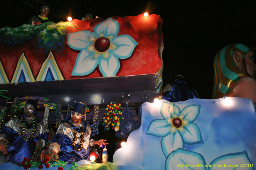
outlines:
{"label": "blue satin robe with silver shoulders on the leftmost masked rider", "polygon": [[[28,118],[27,118],[28,119]],[[26,134],[31,134],[32,123],[26,123]],[[38,140],[47,141],[47,129],[43,122],[37,121],[36,135],[31,140],[25,140],[20,136],[20,119],[13,118],[1,130],[0,139],[8,140],[6,161],[20,164],[24,157],[32,158]]]}

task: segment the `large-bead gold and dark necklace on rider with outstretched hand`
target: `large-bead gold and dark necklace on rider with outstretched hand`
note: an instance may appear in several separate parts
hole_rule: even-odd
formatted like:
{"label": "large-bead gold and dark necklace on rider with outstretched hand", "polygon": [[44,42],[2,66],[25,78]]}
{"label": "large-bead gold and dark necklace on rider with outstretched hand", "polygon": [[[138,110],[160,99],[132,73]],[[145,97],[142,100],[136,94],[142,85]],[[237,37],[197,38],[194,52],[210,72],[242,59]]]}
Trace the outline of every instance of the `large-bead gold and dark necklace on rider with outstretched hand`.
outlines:
{"label": "large-bead gold and dark necklace on rider with outstretched hand", "polygon": [[[73,122],[70,125],[71,129],[74,131],[74,138],[73,138],[73,142],[72,142],[73,147],[72,148],[73,148],[73,150],[76,150],[76,151],[80,151],[84,147],[84,145],[83,145],[83,143],[84,143],[84,140],[83,140],[84,139],[84,126],[83,126],[82,122],[83,121],[81,121],[82,127],[80,127],[80,128],[76,127]],[[79,146],[76,146],[76,140],[77,140],[76,131],[80,134],[80,145]]]}

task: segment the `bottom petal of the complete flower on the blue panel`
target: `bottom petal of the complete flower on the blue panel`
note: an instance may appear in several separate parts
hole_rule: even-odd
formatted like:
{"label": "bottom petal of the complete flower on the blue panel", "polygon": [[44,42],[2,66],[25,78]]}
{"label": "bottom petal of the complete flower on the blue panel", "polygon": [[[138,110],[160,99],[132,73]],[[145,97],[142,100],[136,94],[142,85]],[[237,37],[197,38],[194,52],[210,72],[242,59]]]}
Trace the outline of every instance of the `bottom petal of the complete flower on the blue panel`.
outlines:
{"label": "bottom petal of the complete flower on the blue panel", "polygon": [[161,140],[161,148],[165,157],[178,148],[184,148],[184,143],[180,133],[170,133],[169,135],[163,137]]}

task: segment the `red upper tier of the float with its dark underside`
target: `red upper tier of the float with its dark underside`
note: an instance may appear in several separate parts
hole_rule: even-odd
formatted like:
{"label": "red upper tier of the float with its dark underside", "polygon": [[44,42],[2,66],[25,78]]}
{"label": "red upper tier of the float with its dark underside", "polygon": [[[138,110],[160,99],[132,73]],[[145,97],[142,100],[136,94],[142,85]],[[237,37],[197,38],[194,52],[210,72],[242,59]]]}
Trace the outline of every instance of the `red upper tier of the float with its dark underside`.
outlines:
{"label": "red upper tier of the float with its dark underside", "polygon": [[[161,89],[162,22],[155,14],[141,14],[4,27],[0,89],[8,91],[4,92],[8,98],[141,105]],[[5,101],[1,98],[1,105]]]}

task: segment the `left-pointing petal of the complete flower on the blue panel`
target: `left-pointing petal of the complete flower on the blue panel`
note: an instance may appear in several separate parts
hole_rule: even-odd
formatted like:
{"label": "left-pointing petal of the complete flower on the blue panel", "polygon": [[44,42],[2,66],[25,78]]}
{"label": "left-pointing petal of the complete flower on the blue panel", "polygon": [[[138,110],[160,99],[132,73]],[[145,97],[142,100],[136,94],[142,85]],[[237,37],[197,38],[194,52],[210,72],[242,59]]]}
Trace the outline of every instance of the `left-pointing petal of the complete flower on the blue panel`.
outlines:
{"label": "left-pointing petal of the complete flower on the blue panel", "polygon": [[166,120],[153,120],[149,123],[146,134],[165,137],[170,133],[170,126]]}

